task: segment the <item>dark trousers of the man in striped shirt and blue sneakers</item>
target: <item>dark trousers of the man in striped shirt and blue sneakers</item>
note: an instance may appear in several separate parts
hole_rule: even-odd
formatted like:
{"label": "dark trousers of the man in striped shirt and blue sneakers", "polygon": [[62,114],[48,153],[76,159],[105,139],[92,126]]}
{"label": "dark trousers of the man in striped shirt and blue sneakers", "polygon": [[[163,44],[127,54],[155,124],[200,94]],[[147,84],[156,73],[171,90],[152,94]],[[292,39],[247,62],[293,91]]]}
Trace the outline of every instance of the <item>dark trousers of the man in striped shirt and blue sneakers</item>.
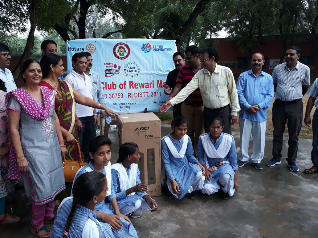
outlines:
{"label": "dark trousers of the man in striped shirt and blue sneakers", "polygon": [[287,122],[288,129],[288,162],[295,161],[298,152],[298,136],[302,126],[303,103],[302,101],[287,104],[279,99],[273,103],[273,157],[281,158],[283,147],[283,133]]}

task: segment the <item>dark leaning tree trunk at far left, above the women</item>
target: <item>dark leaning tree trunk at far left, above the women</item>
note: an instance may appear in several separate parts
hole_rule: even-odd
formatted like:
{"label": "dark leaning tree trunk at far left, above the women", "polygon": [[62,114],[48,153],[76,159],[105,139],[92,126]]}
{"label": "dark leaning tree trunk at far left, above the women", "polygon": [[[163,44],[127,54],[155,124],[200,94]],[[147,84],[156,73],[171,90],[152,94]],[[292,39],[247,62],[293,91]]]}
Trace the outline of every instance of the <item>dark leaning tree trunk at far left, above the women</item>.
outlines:
{"label": "dark leaning tree trunk at far left, above the women", "polygon": [[13,69],[12,75],[14,79],[19,77],[22,64],[25,60],[29,59],[33,53],[33,46],[34,46],[34,32],[35,32],[35,0],[29,1],[29,13],[30,13],[30,31],[28,38],[26,40],[26,44],[24,47],[23,54],[17,64],[17,66]]}

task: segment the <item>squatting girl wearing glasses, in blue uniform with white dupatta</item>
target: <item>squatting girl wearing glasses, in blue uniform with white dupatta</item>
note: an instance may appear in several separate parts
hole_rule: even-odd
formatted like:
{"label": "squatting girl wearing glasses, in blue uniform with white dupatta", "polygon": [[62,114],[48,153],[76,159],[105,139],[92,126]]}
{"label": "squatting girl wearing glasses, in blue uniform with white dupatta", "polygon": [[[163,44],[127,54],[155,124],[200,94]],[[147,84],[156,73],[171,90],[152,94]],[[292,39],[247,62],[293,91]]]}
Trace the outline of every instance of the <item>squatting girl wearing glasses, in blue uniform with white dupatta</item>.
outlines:
{"label": "squatting girl wearing glasses, in blue uniform with white dupatta", "polygon": [[220,117],[212,118],[209,129],[198,141],[198,160],[205,168],[201,191],[208,195],[219,192],[222,199],[228,199],[239,187],[234,138],[222,132]]}

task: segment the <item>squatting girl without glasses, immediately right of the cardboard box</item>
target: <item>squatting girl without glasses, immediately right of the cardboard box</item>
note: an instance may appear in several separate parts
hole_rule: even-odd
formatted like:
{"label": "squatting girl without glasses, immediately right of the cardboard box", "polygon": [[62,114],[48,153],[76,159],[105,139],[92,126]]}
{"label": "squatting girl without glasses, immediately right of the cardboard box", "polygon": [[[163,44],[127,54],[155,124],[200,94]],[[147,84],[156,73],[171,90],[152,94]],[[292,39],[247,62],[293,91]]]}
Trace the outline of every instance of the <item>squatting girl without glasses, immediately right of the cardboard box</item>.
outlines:
{"label": "squatting girl without glasses, immediately right of the cardboard box", "polygon": [[[193,155],[190,137],[186,134],[188,122],[177,116],[171,122],[172,132],[161,139],[162,185],[165,174],[167,186],[175,198],[194,199],[194,191],[204,183],[204,167]],[[165,171],[164,171],[165,170]]]}

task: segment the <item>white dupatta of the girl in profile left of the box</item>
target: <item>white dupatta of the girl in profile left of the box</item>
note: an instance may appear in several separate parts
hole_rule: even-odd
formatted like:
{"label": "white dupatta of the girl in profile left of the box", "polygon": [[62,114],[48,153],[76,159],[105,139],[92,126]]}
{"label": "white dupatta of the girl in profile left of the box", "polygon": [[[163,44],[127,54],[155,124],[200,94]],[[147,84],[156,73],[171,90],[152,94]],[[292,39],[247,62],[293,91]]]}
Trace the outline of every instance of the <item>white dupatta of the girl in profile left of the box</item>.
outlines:
{"label": "white dupatta of the girl in profile left of the box", "polygon": [[[125,191],[128,188],[134,187],[136,185],[137,168],[138,164],[131,164],[130,173],[128,176],[125,167],[121,163],[115,163],[112,165],[112,169],[117,171],[121,191]],[[132,195],[135,195],[135,192],[129,194],[128,196]]]}

